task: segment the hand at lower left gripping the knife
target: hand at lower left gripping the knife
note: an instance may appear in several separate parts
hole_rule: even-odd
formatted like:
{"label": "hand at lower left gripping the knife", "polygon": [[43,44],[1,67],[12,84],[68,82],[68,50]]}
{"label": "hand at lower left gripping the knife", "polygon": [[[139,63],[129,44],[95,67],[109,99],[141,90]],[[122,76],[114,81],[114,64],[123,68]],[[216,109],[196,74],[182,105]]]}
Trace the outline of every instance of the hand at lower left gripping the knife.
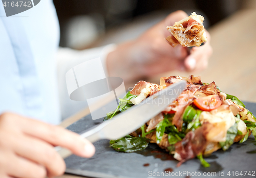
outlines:
{"label": "hand at lower left gripping the knife", "polygon": [[92,143],[59,126],[12,113],[0,115],[0,177],[45,178],[63,174],[65,162],[54,146],[92,157]]}

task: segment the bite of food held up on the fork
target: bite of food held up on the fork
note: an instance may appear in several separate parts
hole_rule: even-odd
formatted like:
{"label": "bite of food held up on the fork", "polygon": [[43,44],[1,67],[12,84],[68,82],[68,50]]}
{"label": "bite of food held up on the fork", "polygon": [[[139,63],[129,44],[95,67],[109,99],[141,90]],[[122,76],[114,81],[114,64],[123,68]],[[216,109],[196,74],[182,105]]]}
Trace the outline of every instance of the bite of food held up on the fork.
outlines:
{"label": "bite of food held up on the fork", "polygon": [[[183,47],[199,47],[201,43],[207,41],[203,26],[204,17],[193,12],[190,16],[177,21],[174,26],[166,27]],[[166,40],[175,47],[178,42],[169,35]]]}

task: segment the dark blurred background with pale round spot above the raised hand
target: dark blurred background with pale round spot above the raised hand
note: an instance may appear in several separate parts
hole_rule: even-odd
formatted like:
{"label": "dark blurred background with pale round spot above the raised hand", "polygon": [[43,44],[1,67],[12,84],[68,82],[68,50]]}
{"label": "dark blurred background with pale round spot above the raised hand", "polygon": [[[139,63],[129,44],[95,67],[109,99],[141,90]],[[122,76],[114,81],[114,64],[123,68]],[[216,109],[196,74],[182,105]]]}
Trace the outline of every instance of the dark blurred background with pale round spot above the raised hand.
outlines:
{"label": "dark blurred background with pale round spot above the raised hand", "polygon": [[[136,38],[169,13],[196,11],[206,28],[241,10],[255,7],[255,0],[54,0],[60,46],[87,49]],[[129,28],[129,29],[127,29]],[[132,31],[131,31],[132,30]]]}

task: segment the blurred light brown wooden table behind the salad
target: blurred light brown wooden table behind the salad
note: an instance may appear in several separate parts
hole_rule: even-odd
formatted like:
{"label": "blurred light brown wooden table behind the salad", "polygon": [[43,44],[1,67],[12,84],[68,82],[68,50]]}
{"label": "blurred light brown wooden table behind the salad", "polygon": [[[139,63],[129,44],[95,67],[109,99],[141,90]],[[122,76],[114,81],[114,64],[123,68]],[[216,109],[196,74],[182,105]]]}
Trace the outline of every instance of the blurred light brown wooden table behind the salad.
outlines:
{"label": "blurred light brown wooden table behind the salad", "polygon": [[[202,76],[202,81],[215,81],[222,91],[237,96],[243,101],[256,102],[256,10],[243,10],[212,27],[211,46],[214,54],[210,58],[208,69],[195,73]],[[188,76],[190,73],[173,71],[150,79],[159,83],[162,76]],[[67,127],[83,116],[89,109],[84,109],[60,125]],[[61,178],[78,178],[65,174]]]}

